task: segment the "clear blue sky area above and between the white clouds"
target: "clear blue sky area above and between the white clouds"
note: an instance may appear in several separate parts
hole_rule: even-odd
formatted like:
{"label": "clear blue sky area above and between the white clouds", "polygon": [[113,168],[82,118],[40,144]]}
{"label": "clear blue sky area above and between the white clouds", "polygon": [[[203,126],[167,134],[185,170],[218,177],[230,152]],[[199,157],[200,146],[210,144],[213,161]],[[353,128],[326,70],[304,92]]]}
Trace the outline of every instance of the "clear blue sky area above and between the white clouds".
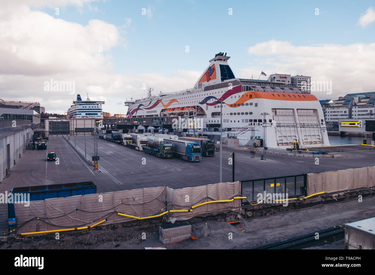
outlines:
{"label": "clear blue sky area above and between the white clouds", "polygon": [[[249,46],[271,39],[295,46],[374,42],[375,24],[367,28],[356,25],[361,13],[375,6],[374,1],[99,1],[91,6],[99,10],[68,6],[59,16],[54,9],[44,10],[82,25],[99,19],[120,27],[124,18],[131,18],[134,31],[127,30],[127,48],[117,46],[110,52],[114,71],[120,74],[204,70],[208,59],[220,51],[232,56],[236,71],[252,62]],[[152,18],[141,14],[148,6]],[[229,8],[233,15],[228,15]]]}

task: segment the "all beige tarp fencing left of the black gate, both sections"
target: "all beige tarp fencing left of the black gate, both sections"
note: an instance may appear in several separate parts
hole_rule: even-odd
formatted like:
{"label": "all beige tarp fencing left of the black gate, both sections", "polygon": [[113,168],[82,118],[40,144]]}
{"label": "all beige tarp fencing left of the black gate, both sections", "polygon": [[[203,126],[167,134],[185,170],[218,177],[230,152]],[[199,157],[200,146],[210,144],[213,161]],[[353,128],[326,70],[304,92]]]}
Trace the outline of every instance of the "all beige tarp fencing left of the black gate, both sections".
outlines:
{"label": "all beige tarp fencing left of the black gate, both sections", "polygon": [[[18,227],[24,224],[18,229],[18,233],[37,232],[87,226],[104,219],[108,220],[103,224],[134,220],[118,215],[117,211],[135,217],[147,217],[165,211],[163,209],[165,201],[168,205],[174,205],[167,207],[166,210],[183,210],[191,209],[192,205],[205,201],[228,200],[240,193],[239,181],[177,190],[165,186],[151,187],[31,201],[29,207],[24,207],[24,204],[15,204],[15,213]],[[241,200],[235,199],[233,202],[202,205],[194,208],[193,212],[168,214],[178,220],[186,220],[202,213],[235,208],[240,205]],[[36,217],[40,219],[30,221]]]}

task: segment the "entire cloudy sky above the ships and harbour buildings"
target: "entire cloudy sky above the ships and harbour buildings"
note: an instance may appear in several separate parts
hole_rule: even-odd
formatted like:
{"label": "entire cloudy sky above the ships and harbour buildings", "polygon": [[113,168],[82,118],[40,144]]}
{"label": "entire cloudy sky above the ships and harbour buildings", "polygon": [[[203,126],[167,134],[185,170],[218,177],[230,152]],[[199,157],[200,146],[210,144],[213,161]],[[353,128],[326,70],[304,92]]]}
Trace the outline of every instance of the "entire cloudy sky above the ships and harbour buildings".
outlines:
{"label": "entire cloudy sky above the ships and harbour buildings", "polygon": [[[375,91],[374,34],[375,3],[365,0],[12,0],[0,9],[0,98],[63,114],[88,92],[104,111],[126,113],[142,86],[191,88],[222,51],[236,77],[303,74],[332,81],[331,95],[312,94],[336,99]],[[74,91],[49,91],[51,80]]]}

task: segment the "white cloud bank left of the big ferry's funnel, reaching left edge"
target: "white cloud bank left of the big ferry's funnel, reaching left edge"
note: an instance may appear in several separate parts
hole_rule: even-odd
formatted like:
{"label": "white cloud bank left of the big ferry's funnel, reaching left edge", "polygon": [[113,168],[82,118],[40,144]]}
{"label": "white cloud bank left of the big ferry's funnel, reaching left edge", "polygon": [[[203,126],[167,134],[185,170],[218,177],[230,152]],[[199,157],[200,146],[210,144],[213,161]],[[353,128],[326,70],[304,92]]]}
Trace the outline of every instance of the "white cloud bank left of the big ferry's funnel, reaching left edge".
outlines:
{"label": "white cloud bank left of the big ferry's funnel, reaching left edge", "polygon": [[[131,24],[130,18],[126,19],[126,24]],[[106,101],[104,111],[124,113],[126,107],[118,102],[130,97],[145,97],[142,83],[153,87],[154,94],[158,94],[159,91],[191,88],[200,76],[200,71],[178,68],[172,76],[162,73],[115,74],[110,51],[126,40],[121,34],[124,32],[120,27],[101,20],[94,19],[81,25],[31,10],[26,5],[1,9],[1,98],[39,101],[47,112],[63,114],[77,94],[86,98],[88,92],[92,100]],[[74,82],[74,94],[44,91],[44,83],[50,79]]]}

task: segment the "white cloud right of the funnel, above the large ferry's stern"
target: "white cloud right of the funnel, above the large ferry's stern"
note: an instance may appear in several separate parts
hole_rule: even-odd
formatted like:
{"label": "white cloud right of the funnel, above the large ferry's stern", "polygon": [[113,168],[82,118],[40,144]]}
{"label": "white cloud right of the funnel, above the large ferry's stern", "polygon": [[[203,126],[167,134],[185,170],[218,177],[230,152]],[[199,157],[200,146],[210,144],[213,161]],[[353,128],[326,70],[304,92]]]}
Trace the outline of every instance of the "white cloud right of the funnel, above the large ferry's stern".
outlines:
{"label": "white cloud right of the funnel, above the large ferry's stern", "polygon": [[332,95],[312,92],[320,99],[374,91],[370,80],[375,74],[375,43],[294,46],[287,41],[270,40],[249,47],[248,52],[256,65],[240,70],[236,77],[249,78],[254,73],[255,78],[263,70],[267,77],[278,72],[303,74],[314,81],[332,81]]}

